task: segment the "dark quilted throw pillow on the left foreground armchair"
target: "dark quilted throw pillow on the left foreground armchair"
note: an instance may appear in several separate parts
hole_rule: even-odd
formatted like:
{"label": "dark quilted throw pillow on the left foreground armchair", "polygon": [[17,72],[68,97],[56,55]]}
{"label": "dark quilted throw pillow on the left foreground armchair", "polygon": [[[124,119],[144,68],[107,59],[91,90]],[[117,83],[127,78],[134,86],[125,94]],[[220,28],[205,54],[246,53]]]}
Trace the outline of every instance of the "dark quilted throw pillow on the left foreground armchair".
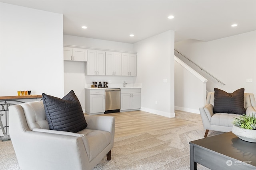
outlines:
{"label": "dark quilted throw pillow on the left foreground armchair", "polygon": [[86,128],[82,107],[73,90],[62,99],[43,93],[42,100],[50,130],[77,133]]}

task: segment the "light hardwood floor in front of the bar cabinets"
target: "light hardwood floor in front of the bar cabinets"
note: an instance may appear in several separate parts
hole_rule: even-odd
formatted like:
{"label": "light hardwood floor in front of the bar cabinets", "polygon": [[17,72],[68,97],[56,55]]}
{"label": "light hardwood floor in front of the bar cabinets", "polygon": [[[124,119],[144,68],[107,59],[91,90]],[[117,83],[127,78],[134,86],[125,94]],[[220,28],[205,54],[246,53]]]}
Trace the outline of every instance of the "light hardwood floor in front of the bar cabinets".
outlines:
{"label": "light hardwood floor in front of the bar cabinets", "polygon": [[101,116],[114,116],[116,118],[115,137],[175,128],[194,123],[177,117],[168,118],[145,111],[108,113]]}

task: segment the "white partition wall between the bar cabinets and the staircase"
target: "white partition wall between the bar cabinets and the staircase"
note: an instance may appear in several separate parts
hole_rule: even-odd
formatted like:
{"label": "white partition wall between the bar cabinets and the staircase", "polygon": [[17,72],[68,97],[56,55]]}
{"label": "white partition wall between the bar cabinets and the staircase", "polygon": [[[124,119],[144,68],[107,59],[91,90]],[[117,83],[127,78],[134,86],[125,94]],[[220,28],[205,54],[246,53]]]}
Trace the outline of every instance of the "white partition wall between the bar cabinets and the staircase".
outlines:
{"label": "white partition wall between the bar cabinets and the staircase", "polygon": [[[134,44],[134,51],[137,52],[136,82],[142,84],[142,110],[175,117],[174,31],[139,41]],[[163,83],[164,79],[167,83]]]}

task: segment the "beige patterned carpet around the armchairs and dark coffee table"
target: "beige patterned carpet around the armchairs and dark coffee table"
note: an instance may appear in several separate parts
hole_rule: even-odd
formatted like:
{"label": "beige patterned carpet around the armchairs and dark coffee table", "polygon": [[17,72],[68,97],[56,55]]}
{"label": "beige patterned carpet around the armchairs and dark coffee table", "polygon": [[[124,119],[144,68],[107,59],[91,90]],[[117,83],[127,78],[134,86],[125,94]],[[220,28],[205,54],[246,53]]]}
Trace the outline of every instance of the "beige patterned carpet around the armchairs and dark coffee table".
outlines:
{"label": "beige patterned carpet around the armchairs and dark coffee table", "polygon": [[[116,137],[111,160],[106,158],[94,170],[189,170],[189,142],[202,139],[204,128],[199,114],[176,112],[192,124],[174,129]],[[209,131],[208,136],[220,132]],[[0,142],[0,170],[20,170],[11,141]],[[198,170],[208,170],[198,164]]]}

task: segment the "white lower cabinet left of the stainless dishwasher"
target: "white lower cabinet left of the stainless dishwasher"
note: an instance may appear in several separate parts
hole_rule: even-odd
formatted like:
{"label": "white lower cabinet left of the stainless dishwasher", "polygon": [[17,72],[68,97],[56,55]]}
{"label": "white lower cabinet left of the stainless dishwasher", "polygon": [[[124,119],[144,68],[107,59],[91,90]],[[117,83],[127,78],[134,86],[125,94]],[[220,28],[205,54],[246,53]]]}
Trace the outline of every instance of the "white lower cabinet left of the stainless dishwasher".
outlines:
{"label": "white lower cabinet left of the stainless dishwasher", "polygon": [[89,115],[104,114],[105,89],[85,89],[85,112]]}

